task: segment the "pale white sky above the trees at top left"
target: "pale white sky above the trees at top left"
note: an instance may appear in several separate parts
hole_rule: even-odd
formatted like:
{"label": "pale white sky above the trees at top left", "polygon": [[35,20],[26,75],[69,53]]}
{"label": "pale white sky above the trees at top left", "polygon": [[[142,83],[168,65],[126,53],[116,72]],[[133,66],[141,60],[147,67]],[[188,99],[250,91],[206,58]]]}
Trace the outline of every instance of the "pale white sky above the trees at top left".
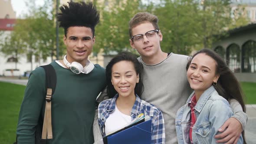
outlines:
{"label": "pale white sky above the trees at top left", "polygon": [[[22,13],[27,13],[28,10],[26,8],[27,0],[11,0],[13,10],[16,12],[16,17],[19,17]],[[35,0],[36,5],[43,5],[44,0]]]}

